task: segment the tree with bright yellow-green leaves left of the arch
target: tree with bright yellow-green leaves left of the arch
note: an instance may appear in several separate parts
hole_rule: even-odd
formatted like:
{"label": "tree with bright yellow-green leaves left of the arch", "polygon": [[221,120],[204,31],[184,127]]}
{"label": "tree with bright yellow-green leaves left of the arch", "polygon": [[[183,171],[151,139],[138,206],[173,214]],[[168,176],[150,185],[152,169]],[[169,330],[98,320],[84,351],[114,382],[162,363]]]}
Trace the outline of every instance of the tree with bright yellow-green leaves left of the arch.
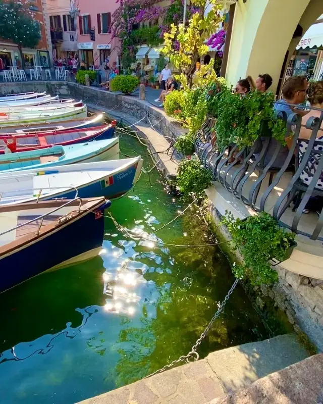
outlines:
{"label": "tree with bright yellow-green leaves left of the arch", "polygon": [[[172,24],[170,32],[164,34],[165,47],[162,52],[170,55],[174,67],[182,73],[180,80],[183,82],[187,78],[191,87],[196,62],[208,52],[205,43],[218,30],[223,17],[219,13],[221,6],[216,4],[216,0],[191,0],[190,3],[191,18],[188,26]],[[208,13],[205,13],[206,5],[211,5]]]}

